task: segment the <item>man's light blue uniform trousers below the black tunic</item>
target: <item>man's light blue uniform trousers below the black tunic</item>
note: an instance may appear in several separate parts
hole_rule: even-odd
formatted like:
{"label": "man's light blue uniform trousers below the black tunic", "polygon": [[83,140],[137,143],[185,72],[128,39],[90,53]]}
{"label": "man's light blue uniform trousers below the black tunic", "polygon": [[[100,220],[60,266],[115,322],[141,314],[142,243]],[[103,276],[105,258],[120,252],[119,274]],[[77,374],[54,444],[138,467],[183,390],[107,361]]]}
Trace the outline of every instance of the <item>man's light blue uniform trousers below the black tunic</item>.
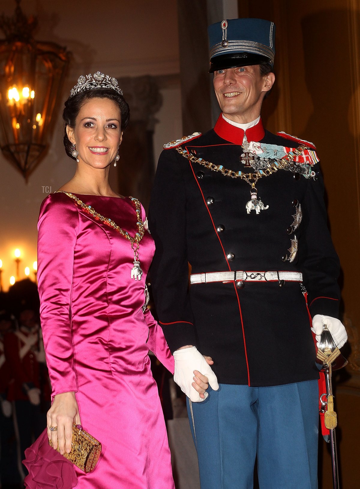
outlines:
{"label": "man's light blue uniform trousers below the black tunic", "polygon": [[201,489],[317,489],[317,380],[248,387],[209,387],[188,400]]}

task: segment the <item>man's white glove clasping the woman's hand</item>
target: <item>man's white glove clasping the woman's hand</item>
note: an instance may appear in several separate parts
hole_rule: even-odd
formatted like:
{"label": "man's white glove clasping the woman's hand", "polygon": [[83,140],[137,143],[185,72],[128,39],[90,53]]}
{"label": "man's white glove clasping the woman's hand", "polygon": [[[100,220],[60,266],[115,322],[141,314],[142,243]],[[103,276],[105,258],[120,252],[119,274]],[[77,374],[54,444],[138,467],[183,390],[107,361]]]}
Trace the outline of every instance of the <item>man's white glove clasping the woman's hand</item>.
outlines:
{"label": "man's white glove clasping the woman's hand", "polygon": [[196,346],[176,350],[176,352],[174,352],[174,359],[174,380],[192,402],[201,402],[208,397],[208,393],[205,392],[205,397],[202,399],[200,394],[192,386],[192,382],[194,381],[194,370],[205,375],[209,379],[211,388],[217,391],[219,384],[217,383],[216,375],[212,371],[210,365],[206,362],[205,358],[197,351]]}

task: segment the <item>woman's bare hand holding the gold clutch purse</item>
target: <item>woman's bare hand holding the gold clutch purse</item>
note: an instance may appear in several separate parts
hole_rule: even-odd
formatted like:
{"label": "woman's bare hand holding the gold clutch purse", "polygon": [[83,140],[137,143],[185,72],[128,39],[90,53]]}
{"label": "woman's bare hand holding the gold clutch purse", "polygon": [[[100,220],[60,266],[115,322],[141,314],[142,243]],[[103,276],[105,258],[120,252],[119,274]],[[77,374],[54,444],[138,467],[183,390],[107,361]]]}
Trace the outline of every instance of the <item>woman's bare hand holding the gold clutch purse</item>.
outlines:
{"label": "woman's bare hand holding the gold clutch purse", "polygon": [[[71,452],[72,423],[81,424],[79,408],[74,392],[63,392],[54,397],[52,405],[48,410],[48,438],[56,450],[59,443],[60,453]],[[50,431],[51,427],[57,427],[56,431]]]}

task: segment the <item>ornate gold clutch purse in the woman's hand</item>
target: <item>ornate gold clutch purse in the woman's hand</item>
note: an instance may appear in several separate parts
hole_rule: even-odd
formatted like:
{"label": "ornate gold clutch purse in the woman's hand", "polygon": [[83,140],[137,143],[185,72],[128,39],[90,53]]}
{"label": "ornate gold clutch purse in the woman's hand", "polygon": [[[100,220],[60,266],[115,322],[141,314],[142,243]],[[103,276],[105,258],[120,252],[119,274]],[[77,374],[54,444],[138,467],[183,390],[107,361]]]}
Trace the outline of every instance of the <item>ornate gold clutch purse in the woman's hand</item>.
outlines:
{"label": "ornate gold clutch purse in the woman's hand", "polygon": [[[52,446],[51,439],[49,445]],[[56,450],[60,452],[59,446]],[[64,457],[84,472],[91,472],[99,460],[100,453],[101,443],[84,431],[80,424],[73,424],[71,452],[64,453]]]}

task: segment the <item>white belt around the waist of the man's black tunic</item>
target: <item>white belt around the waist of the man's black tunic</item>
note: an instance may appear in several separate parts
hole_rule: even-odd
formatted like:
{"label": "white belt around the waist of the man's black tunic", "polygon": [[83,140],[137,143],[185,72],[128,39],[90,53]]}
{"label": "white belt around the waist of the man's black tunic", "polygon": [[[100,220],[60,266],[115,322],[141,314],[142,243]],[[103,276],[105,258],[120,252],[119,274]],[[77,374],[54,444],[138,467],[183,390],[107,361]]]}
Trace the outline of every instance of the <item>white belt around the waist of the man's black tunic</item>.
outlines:
{"label": "white belt around the waist of the man's black tunic", "polygon": [[192,273],[190,275],[191,284],[210,284],[212,282],[302,282],[301,272],[288,271],[228,271],[228,272],[206,272]]}

